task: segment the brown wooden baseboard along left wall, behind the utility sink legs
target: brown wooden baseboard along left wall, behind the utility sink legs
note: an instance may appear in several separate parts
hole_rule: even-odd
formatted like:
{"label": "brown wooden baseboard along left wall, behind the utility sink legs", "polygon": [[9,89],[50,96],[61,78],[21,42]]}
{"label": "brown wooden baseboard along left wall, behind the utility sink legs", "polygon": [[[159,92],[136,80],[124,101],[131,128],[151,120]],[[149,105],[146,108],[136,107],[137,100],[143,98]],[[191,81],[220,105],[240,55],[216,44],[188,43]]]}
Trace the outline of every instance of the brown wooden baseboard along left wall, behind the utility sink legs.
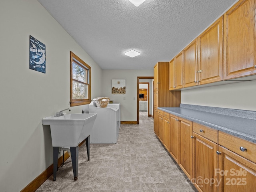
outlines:
{"label": "brown wooden baseboard along left wall, behind the utility sink legs", "polygon": [[[82,141],[79,146],[81,146],[85,142]],[[64,153],[64,161],[69,158],[69,154],[67,152]],[[58,158],[58,167],[62,165],[63,155]],[[20,192],[34,192],[40,187],[51,175],[53,174],[53,164],[51,164],[44,172],[42,172],[39,176],[37,176],[30,184],[28,184],[24,189]]]}

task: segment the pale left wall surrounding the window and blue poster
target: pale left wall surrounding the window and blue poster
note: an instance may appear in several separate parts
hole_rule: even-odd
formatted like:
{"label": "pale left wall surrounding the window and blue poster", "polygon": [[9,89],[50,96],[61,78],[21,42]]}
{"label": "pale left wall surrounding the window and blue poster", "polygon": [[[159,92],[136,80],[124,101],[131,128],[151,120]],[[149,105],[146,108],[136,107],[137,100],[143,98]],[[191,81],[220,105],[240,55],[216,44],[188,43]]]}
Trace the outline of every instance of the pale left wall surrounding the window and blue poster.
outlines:
{"label": "pale left wall surrounding the window and blue poster", "polygon": [[[42,118],[70,107],[70,51],[92,67],[93,98],[102,70],[38,1],[1,0],[0,26],[0,191],[17,192],[53,163]],[[29,69],[30,35],[46,45],[46,74]]]}

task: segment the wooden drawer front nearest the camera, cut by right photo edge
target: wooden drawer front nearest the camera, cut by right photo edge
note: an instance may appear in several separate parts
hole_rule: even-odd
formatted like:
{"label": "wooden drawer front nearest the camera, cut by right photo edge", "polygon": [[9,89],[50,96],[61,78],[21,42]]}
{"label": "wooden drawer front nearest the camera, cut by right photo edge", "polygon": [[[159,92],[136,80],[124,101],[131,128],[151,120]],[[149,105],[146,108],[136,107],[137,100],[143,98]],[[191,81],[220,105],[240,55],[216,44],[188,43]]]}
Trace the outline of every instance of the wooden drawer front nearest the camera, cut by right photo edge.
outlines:
{"label": "wooden drawer front nearest the camera, cut by right photo edge", "polygon": [[[219,145],[256,162],[256,144],[219,131]],[[243,148],[246,148],[244,151]]]}

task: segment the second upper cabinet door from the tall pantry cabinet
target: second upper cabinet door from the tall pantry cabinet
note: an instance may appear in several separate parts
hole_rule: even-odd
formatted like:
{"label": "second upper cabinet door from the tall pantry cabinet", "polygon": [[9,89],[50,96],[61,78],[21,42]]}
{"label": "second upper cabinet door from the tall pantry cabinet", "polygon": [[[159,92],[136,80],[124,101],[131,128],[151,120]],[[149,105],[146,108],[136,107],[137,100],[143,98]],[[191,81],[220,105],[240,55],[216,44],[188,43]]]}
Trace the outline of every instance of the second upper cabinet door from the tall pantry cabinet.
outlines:
{"label": "second upper cabinet door from the tall pantry cabinet", "polygon": [[174,69],[175,69],[175,89],[183,88],[183,51],[181,51],[174,58]]}

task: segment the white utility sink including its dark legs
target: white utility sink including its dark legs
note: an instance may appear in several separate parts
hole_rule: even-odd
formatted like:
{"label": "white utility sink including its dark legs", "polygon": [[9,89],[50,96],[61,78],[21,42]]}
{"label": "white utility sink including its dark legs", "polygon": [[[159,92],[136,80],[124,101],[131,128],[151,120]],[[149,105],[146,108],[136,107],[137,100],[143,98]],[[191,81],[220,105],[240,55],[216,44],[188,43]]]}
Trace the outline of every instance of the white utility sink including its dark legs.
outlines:
{"label": "white utility sink including its dark legs", "polygon": [[42,119],[43,125],[50,125],[51,129],[54,181],[58,169],[59,147],[70,147],[74,180],[78,177],[78,145],[84,140],[86,140],[87,157],[90,160],[90,133],[96,116],[96,113],[73,113]]}

